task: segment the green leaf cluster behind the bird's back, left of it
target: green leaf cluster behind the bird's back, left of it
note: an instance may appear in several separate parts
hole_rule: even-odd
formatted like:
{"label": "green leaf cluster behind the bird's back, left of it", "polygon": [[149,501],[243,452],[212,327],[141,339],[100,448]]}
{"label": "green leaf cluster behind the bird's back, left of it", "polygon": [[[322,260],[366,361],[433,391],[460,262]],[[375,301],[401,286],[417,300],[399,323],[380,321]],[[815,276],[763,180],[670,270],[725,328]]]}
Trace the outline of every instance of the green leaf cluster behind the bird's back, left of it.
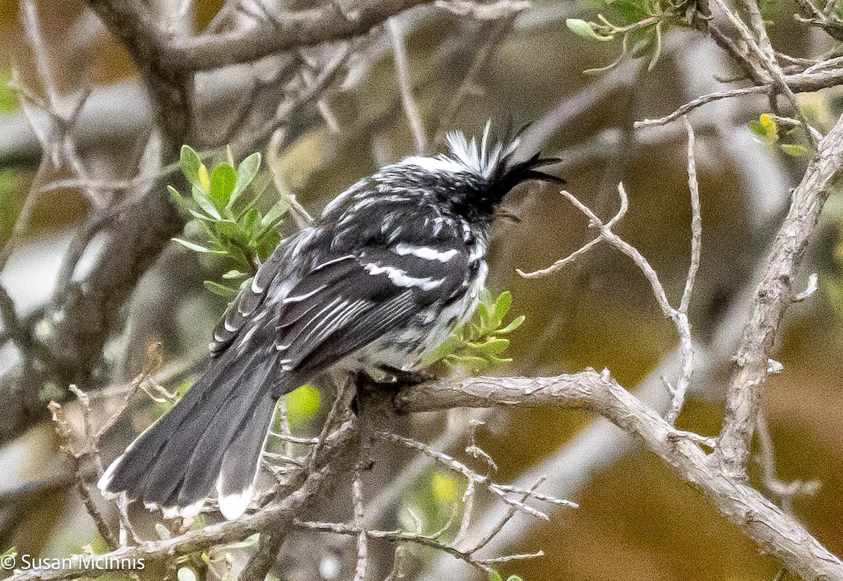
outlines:
{"label": "green leaf cluster behind the bird's back, left of it", "polygon": [[262,192],[244,196],[260,170],[260,153],[252,153],[236,169],[231,148],[226,153],[227,159],[209,170],[199,153],[182,146],[179,164],[191,194],[182,196],[175,187],[167,187],[175,203],[193,218],[185,227],[191,234],[173,240],[189,250],[228,262],[230,268],[222,275],[227,282],[205,281],[205,286],[231,299],[277,246],[278,227],[289,204],[281,199],[266,213],[260,212],[257,202]]}

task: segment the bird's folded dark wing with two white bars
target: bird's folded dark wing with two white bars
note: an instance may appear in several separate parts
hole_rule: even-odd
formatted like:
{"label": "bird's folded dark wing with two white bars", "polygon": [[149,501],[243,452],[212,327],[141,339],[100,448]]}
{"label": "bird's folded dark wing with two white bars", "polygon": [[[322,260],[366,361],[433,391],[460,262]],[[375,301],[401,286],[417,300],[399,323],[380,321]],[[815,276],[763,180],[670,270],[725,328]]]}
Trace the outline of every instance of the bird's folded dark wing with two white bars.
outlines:
{"label": "bird's folded dark wing with two white bars", "polygon": [[369,245],[317,264],[281,304],[276,348],[283,368],[319,372],[422,309],[461,298],[468,260],[459,239]]}

